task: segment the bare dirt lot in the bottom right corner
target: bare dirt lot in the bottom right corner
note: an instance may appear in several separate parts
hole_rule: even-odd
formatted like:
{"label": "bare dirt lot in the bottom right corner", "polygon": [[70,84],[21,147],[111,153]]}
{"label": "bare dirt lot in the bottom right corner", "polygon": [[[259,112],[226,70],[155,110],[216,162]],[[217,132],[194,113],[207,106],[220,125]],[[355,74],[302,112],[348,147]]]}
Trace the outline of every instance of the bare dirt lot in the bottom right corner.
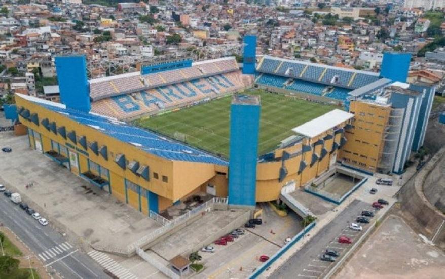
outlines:
{"label": "bare dirt lot in the bottom right corner", "polygon": [[390,215],[336,278],[443,278],[445,254]]}

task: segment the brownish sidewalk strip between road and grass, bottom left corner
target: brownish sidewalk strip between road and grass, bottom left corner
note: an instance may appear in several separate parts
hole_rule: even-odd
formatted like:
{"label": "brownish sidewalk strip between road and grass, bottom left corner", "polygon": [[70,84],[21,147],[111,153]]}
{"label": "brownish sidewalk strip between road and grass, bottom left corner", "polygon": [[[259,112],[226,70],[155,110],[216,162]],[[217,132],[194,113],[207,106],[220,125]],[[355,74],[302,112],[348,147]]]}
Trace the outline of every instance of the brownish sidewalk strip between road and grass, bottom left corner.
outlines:
{"label": "brownish sidewalk strip between road and grass, bottom left corner", "polygon": [[[39,273],[39,278],[41,279],[50,279],[53,278],[48,274],[48,270],[43,266],[43,263],[34,255],[34,253],[24,244],[20,238],[18,238],[9,228],[1,226],[0,231],[5,234],[6,237],[17,246],[20,251],[22,251],[23,256],[15,256],[14,258],[20,260],[20,268],[29,268],[29,264],[31,267]],[[28,260],[28,257],[30,259]],[[55,273],[55,272],[54,272]],[[52,274],[53,276],[55,274]],[[56,277],[58,278],[58,276]]]}

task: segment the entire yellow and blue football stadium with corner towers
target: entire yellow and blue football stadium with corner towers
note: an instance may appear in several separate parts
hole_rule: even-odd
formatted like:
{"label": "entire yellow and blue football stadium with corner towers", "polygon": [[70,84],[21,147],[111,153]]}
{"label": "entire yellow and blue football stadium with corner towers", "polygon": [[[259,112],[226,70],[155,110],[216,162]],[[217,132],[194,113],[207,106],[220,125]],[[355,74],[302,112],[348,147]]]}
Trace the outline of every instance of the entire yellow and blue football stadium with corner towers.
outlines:
{"label": "entire yellow and blue football stadium with corner towers", "polygon": [[385,54],[374,73],[257,57],[255,39],[242,65],[90,81],[85,57],[57,57],[61,103],[17,94],[19,121],[31,148],[147,215],[197,192],[254,208],[336,165],[400,173],[422,146],[435,88],[405,83],[409,55]]}

